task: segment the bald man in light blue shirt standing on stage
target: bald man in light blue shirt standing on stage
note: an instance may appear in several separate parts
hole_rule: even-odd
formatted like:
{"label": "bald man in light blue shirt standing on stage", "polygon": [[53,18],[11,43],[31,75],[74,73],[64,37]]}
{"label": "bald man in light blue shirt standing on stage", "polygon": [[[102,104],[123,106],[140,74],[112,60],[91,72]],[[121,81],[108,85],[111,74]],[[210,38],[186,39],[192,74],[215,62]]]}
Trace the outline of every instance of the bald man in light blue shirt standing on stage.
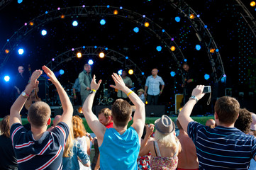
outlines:
{"label": "bald man in light blue shirt standing on stage", "polygon": [[158,97],[162,94],[162,90],[165,87],[165,82],[162,80],[162,77],[157,76],[157,73],[157,69],[152,69],[152,76],[149,76],[146,80],[144,96],[148,96],[148,105],[157,105]]}

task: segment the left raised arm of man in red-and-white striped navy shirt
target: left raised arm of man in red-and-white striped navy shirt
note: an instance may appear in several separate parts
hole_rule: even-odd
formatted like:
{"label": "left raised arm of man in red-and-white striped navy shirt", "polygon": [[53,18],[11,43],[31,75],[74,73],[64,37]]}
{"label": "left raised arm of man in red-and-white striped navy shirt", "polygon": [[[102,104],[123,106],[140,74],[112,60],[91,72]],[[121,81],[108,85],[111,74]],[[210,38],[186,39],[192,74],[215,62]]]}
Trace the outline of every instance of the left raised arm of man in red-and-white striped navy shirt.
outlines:
{"label": "left raised arm of man in red-and-white striped navy shirt", "polygon": [[18,96],[16,101],[13,103],[13,106],[11,106],[10,128],[11,128],[11,125],[13,125],[13,123],[21,123],[21,115],[20,115],[21,109],[26,103],[31,91],[33,91],[33,89],[38,86],[39,84],[38,77],[40,77],[42,73],[43,72],[40,69],[35,70],[35,72],[33,72],[33,74],[31,75],[30,84],[28,84],[28,86],[26,86],[26,89],[23,91],[26,93],[25,96],[22,96],[22,95]]}

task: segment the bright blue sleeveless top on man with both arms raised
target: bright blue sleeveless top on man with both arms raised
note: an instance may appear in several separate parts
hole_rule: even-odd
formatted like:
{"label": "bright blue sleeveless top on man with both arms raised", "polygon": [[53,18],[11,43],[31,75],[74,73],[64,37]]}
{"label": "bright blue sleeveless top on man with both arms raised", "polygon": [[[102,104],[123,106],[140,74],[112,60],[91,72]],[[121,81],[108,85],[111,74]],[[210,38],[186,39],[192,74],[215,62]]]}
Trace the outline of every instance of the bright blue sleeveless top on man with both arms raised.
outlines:
{"label": "bright blue sleeveless top on man with both arms raised", "polygon": [[138,133],[130,127],[120,135],[114,128],[106,129],[100,152],[101,170],[138,169],[137,159],[140,152]]}

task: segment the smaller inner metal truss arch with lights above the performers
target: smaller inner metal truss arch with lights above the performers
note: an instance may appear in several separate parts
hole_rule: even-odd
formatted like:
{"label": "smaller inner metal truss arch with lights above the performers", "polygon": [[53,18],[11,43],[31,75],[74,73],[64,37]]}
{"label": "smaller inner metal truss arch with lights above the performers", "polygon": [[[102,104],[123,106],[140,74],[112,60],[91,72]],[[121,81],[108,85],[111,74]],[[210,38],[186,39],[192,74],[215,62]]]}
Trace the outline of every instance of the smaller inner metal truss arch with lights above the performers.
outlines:
{"label": "smaller inner metal truss arch with lights above the performers", "polygon": [[140,86],[142,86],[142,83],[146,80],[146,77],[141,69],[138,67],[137,64],[130,60],[129,57],[109,48],[106,50],[106,47],[77,47],[74,48],[74,50],[68,50],[66,52],[62,52],[62,54],[60,55],[57,55],[57,57],[55,57],[53,61],[51,60],[50,62],[48,62],[46,66],[50,67],[52,71],[55,71],[55,69],[61,66],[64,62],[69,62],[71,60],[74,60],[74,58],[77,58],[77,52],[81,52],[82,56],[94,55],[97,57],[99,57],[100,52],[104,52],[105,57],[109,58],[110,60],[113,60],[114,62],[119,62],[126,69],[133,69],[133,75],[137,79]]}

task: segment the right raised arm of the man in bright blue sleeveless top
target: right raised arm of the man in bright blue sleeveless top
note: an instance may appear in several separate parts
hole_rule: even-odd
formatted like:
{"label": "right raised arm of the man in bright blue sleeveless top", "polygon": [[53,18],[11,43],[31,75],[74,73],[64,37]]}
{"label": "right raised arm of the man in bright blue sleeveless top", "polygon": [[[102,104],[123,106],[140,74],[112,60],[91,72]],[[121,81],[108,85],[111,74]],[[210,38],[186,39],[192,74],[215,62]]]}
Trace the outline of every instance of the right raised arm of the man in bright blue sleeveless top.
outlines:
{"label": "right raised arm of the man in bright blue sleeveless top", "polygon": [[145,125],[145,105],[143,101],[140,100],[139,96],[124,84],[120,75],[114,73],[112,78],[113,81],[115,81],[116,86],[111,85],[111,87],[123,91],[136,107],[136,111],[133,116],[133,125],[131,126],[136,130],[138,136],[141,137],[143,135],[143,128]]}

